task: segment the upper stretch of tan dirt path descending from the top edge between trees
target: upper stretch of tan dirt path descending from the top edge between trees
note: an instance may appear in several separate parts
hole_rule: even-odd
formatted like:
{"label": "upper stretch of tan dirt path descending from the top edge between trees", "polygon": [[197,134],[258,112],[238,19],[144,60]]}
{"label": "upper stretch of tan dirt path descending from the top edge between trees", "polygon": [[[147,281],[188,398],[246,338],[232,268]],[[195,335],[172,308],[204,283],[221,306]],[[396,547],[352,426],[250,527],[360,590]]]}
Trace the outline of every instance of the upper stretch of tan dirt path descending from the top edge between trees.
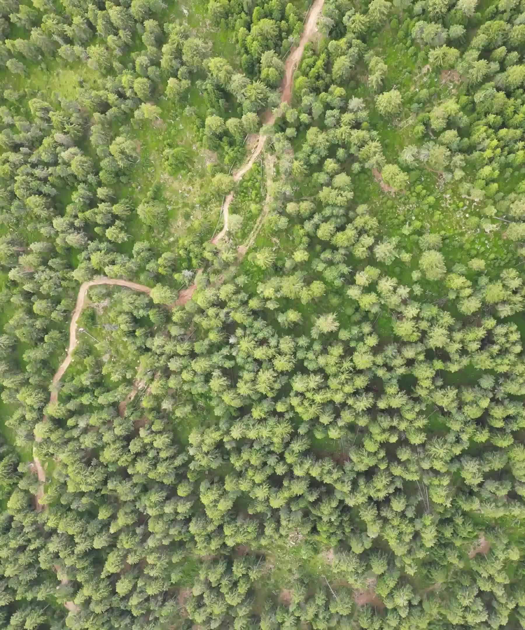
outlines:
{"label": "upper stretch of tan dirt path descending from the top edge between trees", "polygon": [[[281,103],[290,103],[292,99],[292,86],[294,84],[294,72],[296,71],[297,64],[303,57],[304,47],[308,42],[310,42],[313,37],[317,33],[317,20],[319,14],[321,13],[321,9],[325,4],[325,0],[314,0],[313,4],[308,10],[308,14],[306,14],[306,20],[304,21],[303,33],[301,34],[301,38],[299,39],[299,43],[297,47],[292,50],[292,52],[288,55],[286,62],[284,62],[284,77],[280,84],[280,89],[282,91],[282,95],[280,98]],[[277,109],[277,108],[276,108]],[[275,110],[266,110],[266,112],[262,115],[262,121],[265,125],[273,125],[275,122]],[[265,134],[259,134],[259,139],[257,141],[257,145],[255,149],[251,152],[250,157],[246,160],[246,162],[239,168],[237,171],[233,173],[233,181],[240,181],[246,173],[253,166],[255,160],[260,156],[262,150],[264,149],[265,142],[268,136]],[[212,238],[212,243],[218,243],[226,232],[228,232],[228,219],[229,219],[229,205],[233,200],[233,190],[224,197],[221,207],[221,214],[224,217],[224,225],[222,226],[222,230]],[[264,217],[263,217],[264,218]],[[259,226],[260,227],[260,226]],[[244,248],[245,246],[241,246]],[[248,249],[248,248],[246,248]]]}

